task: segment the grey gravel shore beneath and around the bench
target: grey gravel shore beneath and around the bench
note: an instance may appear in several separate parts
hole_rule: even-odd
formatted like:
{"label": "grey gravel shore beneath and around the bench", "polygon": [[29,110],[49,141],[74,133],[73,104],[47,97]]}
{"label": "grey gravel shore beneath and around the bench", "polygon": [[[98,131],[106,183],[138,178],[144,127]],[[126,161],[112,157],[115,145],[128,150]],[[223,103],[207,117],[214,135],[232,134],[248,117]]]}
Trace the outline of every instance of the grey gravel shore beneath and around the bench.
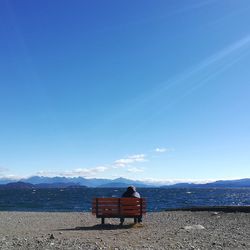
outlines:
{"label": "grey gravel shore beneath and around the bench", "polygon": [[91,213],[0,212],[0,249],[250,249],[250,213],[148,213],[142,225]]}

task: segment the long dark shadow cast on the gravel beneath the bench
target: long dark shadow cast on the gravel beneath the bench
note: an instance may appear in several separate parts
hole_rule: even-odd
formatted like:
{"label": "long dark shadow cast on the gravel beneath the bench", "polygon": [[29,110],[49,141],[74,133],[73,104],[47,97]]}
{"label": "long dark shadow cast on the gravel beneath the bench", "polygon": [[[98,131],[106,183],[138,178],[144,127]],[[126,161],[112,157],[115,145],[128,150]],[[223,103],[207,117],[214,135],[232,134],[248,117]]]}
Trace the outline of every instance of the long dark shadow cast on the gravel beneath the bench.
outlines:
{"label": "long dark shadow cast on the gravel beneath the bench", "polygon": [[97,224],[93,226],[85,227],[74,227],[74,228],[61,228],[56,231],[91,231],[91,230],[120,230],[120,229],[130,229],[134,228],[135,224],[126,224],[126,225],[114,225],[114,224]]}

